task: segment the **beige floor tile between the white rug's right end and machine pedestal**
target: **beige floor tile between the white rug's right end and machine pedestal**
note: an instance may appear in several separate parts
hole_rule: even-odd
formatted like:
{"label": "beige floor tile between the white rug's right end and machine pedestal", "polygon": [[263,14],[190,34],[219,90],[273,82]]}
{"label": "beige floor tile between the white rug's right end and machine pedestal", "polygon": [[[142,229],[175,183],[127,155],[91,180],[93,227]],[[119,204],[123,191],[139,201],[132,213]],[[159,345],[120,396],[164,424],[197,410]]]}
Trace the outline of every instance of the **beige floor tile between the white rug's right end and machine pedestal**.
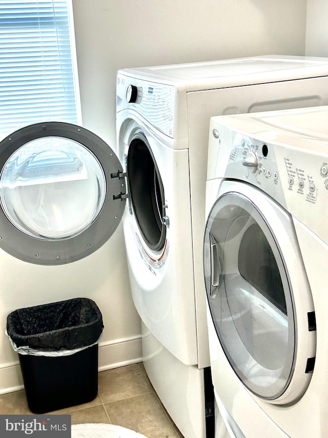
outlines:
{"label": "beige floor tile between the white rug's right end and machine pedestal", "polygon": [[148,393],[105,404],[110,421],[136,432],[160,430],[170,426],[155,394]]}

